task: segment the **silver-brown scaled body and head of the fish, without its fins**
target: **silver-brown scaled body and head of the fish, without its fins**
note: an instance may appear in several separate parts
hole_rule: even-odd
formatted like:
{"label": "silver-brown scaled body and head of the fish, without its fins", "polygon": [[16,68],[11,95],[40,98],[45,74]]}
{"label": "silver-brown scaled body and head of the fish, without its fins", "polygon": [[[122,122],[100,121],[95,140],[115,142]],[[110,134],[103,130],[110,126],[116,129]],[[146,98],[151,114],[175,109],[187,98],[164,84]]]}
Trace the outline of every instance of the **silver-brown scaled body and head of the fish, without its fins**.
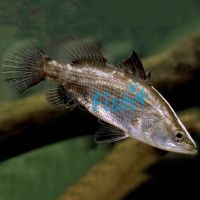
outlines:
{"label": "silver-brown scaled body and head of the fish, without its fins", "polygon": [[[53,61],[53,66],[56,68],[59,65]],[[124,133],[122,138],[130,136],[168,151],[188,154],[197,152],[195,142],[169,103],[147,82],[106,66],[77,67],[67,64],[62,67],[57,77],[59,76],[61,80],[59,84],[64,85],[66,90],[75,95],[90,113],[122,130]],[[51,79],[48,69],[47,78]],[[148,98],[144,99],[144,105],[135,100],[136,90],[133,94],[129,94],[130,84],[137,84],[137,91],[144,89],[148,95]],[[97,110],[94,111],[93,97],[97,91],[101,93],[110,91],[108,98],[118,98],[121,101],[122,94],[128,94],[133,99],[134,110],[120,109],[117,112],[111,112],[106,110],[103,102],[100,102]],[[184,134],[184,139],[176,138],[177,133]]]}

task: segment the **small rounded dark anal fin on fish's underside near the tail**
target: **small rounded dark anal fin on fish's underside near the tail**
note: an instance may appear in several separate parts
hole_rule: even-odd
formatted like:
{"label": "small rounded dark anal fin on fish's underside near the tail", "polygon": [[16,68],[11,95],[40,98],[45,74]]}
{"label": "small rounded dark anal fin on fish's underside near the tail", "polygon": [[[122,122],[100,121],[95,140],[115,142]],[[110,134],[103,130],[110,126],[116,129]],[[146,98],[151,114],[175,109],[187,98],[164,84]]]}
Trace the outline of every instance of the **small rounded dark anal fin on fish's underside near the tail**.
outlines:
{"label": "small rounded dark anal fin on fish's underside near the tail", "polygon": [[56,110],[66,110],[77,105],[75,98],[61,85],[53,85],[46,89],[48,103]]}

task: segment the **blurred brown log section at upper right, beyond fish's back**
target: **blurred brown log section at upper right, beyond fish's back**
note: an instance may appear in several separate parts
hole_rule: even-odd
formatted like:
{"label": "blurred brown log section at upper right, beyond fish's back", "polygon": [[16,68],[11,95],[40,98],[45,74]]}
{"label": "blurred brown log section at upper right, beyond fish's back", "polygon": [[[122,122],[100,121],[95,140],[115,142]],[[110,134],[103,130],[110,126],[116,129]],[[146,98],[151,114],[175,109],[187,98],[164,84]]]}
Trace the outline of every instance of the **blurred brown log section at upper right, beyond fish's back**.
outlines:
{"label": "blurred brown log section at upper right, beyond fish's back", "polygon": [[200,33],[145,59],[144,66],[152,72],[153,85],[160,89],[169,90],[199,80]]}

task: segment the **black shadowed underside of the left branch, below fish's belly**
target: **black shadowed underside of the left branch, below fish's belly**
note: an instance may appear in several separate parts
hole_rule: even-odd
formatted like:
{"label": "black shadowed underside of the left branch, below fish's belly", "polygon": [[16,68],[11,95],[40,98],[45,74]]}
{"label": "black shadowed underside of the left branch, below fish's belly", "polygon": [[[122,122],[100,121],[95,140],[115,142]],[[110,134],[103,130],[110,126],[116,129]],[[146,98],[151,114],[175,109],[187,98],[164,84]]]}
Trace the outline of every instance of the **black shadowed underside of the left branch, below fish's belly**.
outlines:
{"label": "black shadowed underside of the left branch, below fish's belly", "polygon": [[92,135],[98,126],[94,116],[79,108],[66,112],[47,124],[30,124],[23,132],[0,140],[0,161],[47,144]]}

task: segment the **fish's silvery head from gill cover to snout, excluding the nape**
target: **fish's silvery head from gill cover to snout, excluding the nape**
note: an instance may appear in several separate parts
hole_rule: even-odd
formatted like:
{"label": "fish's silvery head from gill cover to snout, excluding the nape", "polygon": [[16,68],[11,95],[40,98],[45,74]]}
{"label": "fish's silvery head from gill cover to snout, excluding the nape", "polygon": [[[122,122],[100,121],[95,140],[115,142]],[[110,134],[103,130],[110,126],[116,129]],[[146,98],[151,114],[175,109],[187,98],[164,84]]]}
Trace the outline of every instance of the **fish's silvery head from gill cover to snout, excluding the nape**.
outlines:
{"label": "fish's silvery head from gill cover to snout, excluding the nape", "polygon": [[157,148],[183,154],[197,153],[194,140],[178,118],[174,121],[160,116],[145,133],[148,143]]}

